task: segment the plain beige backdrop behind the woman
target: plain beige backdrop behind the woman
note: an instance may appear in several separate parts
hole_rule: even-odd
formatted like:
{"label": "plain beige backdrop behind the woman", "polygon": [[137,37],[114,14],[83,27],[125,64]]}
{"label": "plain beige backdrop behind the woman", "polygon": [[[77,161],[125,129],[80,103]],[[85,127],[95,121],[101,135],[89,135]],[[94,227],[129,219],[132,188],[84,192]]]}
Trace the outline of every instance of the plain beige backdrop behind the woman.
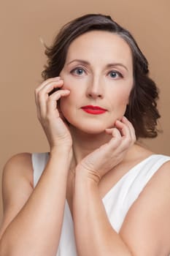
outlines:
{"label": "plain beige backdrop behind the woman", "polygon": [[[163,134],[144,143],[155,152],[170,155],[169,0],[1,0],[1,170],[12,154],[48,150],[34,106],[34,89],[41,81],[45,64],[39,37],[50,44],[64,23],[88,12],[112,15],[134,34],[147,56],[151,76],[161,89],[159,109]],[[2,210],[0,218],[1,213]]]}

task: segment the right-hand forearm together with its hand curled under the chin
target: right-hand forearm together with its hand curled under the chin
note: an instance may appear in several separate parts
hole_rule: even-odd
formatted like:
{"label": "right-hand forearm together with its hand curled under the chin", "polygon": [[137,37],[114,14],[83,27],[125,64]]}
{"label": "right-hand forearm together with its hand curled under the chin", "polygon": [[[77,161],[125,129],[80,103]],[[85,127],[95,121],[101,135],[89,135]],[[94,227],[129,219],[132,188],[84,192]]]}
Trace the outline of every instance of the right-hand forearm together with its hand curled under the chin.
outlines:
{"label": "right-hand forearm together with its hand curled under the chin", "polygon": [[112,135],[109,143],[82,159],[76,168],[74,188],[74,230],[80,256],[127,255],[131,252],[112,229],[107,218],[98,184],[102,176],[122,161],[134,144],[134,129],[128,128],[125,118],[115,128],[107,129]]}

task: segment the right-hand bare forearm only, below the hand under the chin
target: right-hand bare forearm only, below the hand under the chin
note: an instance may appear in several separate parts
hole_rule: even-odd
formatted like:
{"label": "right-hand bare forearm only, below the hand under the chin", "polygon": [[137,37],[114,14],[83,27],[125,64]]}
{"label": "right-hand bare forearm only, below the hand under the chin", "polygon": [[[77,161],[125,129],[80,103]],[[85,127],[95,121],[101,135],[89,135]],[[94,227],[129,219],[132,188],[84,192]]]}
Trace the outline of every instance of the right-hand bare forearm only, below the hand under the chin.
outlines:
{"label": "right-hand bare forearm only, below the hand under the chin", "polygon": [[130,256],[109,223],[95,181],[77,172],[74,189],[74,229],[80,256]]}

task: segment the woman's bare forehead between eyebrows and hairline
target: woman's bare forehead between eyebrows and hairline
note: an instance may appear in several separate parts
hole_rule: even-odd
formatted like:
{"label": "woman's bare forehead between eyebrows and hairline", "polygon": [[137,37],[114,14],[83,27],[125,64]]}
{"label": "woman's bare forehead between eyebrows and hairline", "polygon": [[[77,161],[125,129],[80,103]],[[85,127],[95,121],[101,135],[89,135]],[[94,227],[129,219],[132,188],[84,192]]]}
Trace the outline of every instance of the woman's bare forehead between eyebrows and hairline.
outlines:
{"label": "woman's bare forehead between eyebrows and hairline", "polygon": [[128,43],[109,31],[88,31],[74,39],[69,45],[66,62],[72,59],[121,61],[125,65],[132,65],[131,48]]}

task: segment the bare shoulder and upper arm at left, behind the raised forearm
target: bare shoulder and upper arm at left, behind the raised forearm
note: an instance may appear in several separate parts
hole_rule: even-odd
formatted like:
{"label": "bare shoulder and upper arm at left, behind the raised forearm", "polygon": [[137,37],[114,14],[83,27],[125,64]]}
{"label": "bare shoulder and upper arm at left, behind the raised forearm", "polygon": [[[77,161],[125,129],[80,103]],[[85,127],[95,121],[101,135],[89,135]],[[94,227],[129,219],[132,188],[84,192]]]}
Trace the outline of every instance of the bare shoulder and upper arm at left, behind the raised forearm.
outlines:
{"label": "bare shoulder and upper arm at left, behind the raised forearm", "polygon": [[31,154],[21,153],[11,157],[4,165],[2,175],[2,199],[4,216],[1,233],[18,214],[33,191],[33,167]]}

